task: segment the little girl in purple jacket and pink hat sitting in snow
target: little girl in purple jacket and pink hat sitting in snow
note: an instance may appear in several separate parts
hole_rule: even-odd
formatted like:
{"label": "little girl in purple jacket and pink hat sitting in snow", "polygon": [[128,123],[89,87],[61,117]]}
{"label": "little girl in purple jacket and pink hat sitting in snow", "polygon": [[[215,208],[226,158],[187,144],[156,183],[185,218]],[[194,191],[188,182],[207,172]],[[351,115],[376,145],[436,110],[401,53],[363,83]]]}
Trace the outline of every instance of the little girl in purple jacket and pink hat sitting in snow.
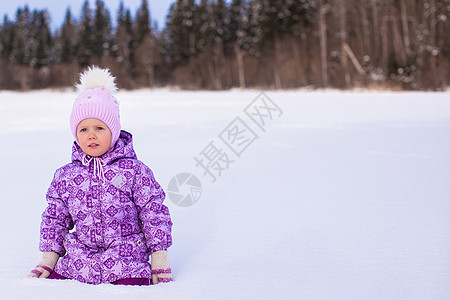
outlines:
{"label": "little girl in purple jacket and pink hat sitting in snow", "polygon": [[[172,280],[172,221],[165,194],[121,131],[115,78],[88,68],[70,125],[72,162],[56,170],[42,214],[42,261],[32,277],[100,284]],[[151,256],[151,265],[148,262]]]}

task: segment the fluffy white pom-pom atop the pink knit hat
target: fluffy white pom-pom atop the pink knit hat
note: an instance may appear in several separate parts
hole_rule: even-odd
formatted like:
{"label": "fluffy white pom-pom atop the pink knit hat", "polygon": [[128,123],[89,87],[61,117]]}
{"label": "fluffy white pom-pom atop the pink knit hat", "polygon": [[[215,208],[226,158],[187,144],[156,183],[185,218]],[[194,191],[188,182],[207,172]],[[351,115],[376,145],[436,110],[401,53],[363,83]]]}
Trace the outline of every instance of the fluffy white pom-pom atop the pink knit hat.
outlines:
{"label": "fluffy white pom-pom atop the pink knit hat", "polygon": [[97,66],[88,67],[80,74],[80,84],[76,85],[77,92],[82,93],[92,88],[103,88],[110,94],[117,92],[116,78],[111,75],[108,69],[101,69]]}

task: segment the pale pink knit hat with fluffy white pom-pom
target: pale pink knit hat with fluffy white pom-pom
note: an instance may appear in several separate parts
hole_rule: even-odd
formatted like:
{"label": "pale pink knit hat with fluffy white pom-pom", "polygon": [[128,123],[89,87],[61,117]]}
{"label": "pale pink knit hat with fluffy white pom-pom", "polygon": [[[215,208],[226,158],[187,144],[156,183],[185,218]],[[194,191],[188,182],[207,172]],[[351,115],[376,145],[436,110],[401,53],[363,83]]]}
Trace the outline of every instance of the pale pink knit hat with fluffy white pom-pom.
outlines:
{"label": "pale pink knit hat with fluffy white pom-pom", "polygon": [[89,67],[80,74],[80,84],[77,91],[80,93],[75,100],[70,115],[70,128],[77,139],[77,126],[88,118],[99,119],[108,126],[111,131],[111,148],[119,139],[120,115],[119,102],[113,96],[117,92],[116,84],[108,69]]}

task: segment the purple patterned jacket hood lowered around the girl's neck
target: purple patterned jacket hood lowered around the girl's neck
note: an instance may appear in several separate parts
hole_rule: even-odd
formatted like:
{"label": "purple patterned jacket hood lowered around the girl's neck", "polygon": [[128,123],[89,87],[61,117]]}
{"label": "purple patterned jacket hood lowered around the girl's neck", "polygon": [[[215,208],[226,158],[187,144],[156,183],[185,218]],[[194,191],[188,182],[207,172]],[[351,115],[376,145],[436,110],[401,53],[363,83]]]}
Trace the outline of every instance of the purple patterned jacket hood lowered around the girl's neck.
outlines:
{"label": "purple patterned jacket hood lowered around the girl's neck", "polygon": [[[83,159],[86,157],[89,158],[90,156],[85,154],[83,150],[81,150],[81,147],[74,142],[72,147],[72,162],[83,162]],[[137,159],[133,148],[133,136],[131,133],[122,130],[115,146],[99,158],[101,158],[102,162],[105,164],[110,164],[122,158]]]}

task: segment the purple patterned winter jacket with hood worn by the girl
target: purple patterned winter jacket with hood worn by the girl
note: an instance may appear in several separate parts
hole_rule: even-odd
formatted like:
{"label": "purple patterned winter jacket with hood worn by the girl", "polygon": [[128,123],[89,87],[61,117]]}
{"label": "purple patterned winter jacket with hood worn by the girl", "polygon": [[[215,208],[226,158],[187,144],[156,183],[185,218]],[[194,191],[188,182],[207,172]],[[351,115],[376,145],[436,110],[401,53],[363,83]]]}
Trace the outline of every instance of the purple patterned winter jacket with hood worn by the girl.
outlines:
{"label": "purple patterned winter jacket with hood worn by the girl", "polygon": [[150,253],[172,244],[164,191],[137,160],[128,132],[100,158],[100,167],[89,162],[75,143],[72,163],[56,170],[39,249],[62,256],[55,272],[81,282],[150,278]]}

